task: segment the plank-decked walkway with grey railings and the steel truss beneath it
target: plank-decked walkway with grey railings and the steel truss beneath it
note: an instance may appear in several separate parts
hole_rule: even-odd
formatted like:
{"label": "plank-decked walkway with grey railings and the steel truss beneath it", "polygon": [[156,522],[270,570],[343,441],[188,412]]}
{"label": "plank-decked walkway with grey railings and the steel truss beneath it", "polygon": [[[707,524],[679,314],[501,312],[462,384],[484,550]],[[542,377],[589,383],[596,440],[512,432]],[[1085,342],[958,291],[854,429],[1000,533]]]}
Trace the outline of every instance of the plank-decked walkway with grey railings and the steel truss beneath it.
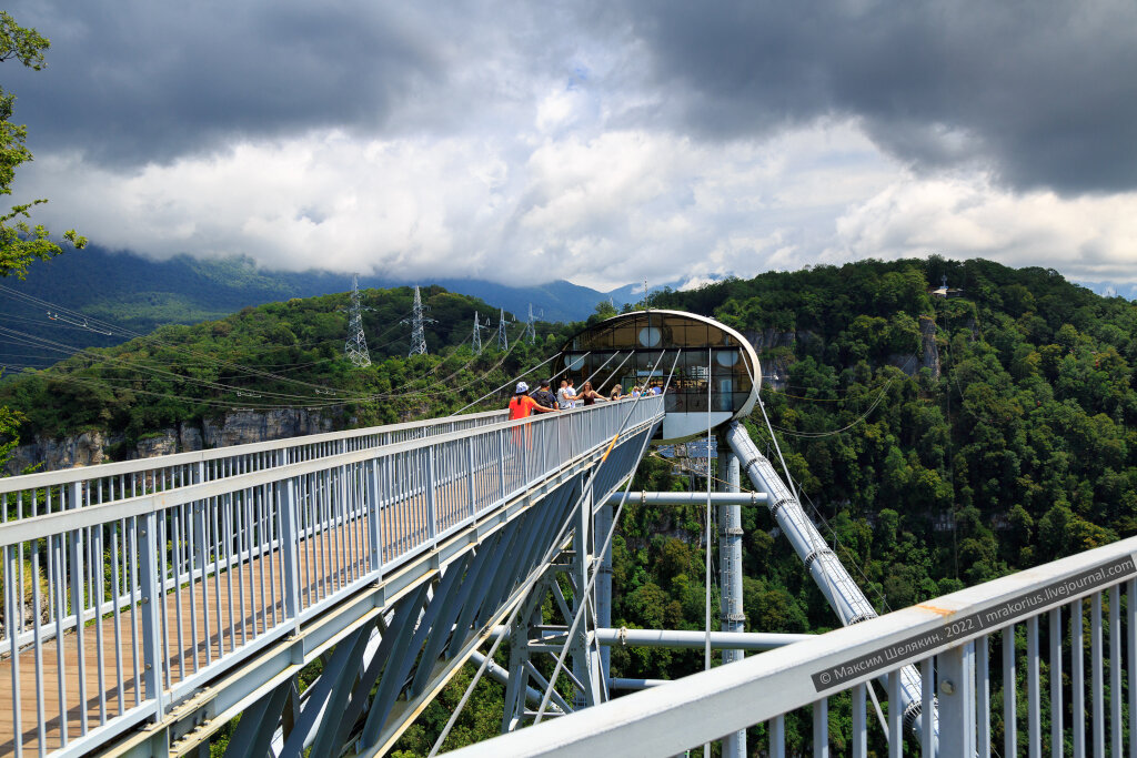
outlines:
{"label": "plank-decked walkway with grey railings and the steel truss beneath it", "polygon": [[[0,755],[189,751],[413,617],[364,657],[399,674],[367,713],[381,745],[453,670],[439,656],[465,660],[561,547],[571,500],[634,470],[663,413],[644,397],[474,414],[0,480]],[[412,636],[431,624],[445,634]],[[310,719],[297,744],[324,734]]]}

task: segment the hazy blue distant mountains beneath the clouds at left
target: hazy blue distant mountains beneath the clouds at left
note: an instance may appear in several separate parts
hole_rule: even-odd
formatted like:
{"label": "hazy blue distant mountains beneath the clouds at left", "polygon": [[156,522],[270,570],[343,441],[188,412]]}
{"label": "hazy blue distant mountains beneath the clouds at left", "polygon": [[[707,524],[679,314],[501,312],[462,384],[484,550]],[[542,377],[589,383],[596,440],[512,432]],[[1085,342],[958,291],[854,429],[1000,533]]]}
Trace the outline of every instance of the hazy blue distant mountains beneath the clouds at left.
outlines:
{"label": "hazy blue distant mountains beneath the clouds at left", "polygon": [[[495,308],[505,308],[507,318],[512,314],[514,320],[525,319],[532,305],[534,316],[547,322],[581,320],[601,301],[611,300],[620,308],[639,300],[642,291],[642,284],[629,284],[600,292],[563,280],[533,286],[507,286],[446,276],[420,281],[359,277],[360,289],[414,284],[438,284],[451,292],[481,298]],[[242,258],[177,256],[156,261],[91,245],[38,264],[28,272],[26,281],[9,280],[2,285],[59,308],[147,334],[161,324],[192,324],[222,318],[249,306],[346,292],[351,289],[351,276],[316,269],[274,272],[258,268]],[[73,347],[106,347],[132,336],[84,327],[82,317],[18,300],[7,290],[0,290],[0,294],[5,295],[0,326],[16,332],[47,334]],[[487,313],[482,317],[483,323],[489,318],[496,324],[498,314]],[[64,353],[52,355],[22,345],[19,338],[11,334],[0,341],[0,363],[9,372],[23,367],[42,368],[61,357]]]}

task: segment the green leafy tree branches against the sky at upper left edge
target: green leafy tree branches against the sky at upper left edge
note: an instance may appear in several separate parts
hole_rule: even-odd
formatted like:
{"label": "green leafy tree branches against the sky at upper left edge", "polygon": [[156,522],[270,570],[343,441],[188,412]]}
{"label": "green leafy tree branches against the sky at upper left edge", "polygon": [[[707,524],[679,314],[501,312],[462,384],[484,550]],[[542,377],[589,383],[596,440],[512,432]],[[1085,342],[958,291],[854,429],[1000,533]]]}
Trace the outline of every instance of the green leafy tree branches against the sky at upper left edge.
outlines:
{"label": "green leafy tree branches against the sky at upper left edge", "polygon": [[[0,10],[0,61],[18,60],[40,70],[44,66],[43,51],[50,44],[34,28],[24,28],[8,11]],[[32,160],[32,151],[25,144],[27,127],[11,120],[15,102],[16,95],[0,88],[0,194],[11,194],[16,168]],[[47,260],[63,252],[42,224],[30,223],[32,208],[44,202],[40,198],[17,203],[0,215],[0,276],[24,278],[33,260]],[[67,230],[64,239],[76,248],[86,245],[86,238],[75,230]]]}

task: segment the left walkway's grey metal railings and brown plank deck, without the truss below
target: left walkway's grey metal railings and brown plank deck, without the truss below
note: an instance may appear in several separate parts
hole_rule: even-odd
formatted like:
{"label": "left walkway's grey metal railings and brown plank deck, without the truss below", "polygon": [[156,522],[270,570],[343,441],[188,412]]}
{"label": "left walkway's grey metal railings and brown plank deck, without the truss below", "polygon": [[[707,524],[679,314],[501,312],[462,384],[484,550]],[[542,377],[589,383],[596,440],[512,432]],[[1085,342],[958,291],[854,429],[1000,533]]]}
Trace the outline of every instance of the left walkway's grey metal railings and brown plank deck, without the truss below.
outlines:
{"label": "left walkway's grey metal railings and brown plank deck, without the truss below", "polygon": [[0,753],[78,753],[161,718],[662,415],[662,398],[478,414],[0,480],[0,711],[14,718]]}

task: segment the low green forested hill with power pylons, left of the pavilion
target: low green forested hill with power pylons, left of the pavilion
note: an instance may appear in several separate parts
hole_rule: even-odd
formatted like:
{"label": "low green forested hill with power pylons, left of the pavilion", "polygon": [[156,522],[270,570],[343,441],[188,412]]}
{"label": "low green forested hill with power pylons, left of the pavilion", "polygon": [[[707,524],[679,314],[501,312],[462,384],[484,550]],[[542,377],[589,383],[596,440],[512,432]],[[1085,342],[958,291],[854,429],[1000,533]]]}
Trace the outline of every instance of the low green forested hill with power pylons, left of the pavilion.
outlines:
{"label": "low green forested hill with power pylons, left of the pavilion", "polygon": [[487,330],[489,349],[475,355],[474,313],[484,316],[491,307],[441,288],[421,292],[433,319],[425,325],[428,356],[406,357],[410,325],[404,319],[414,290],[363,290],[373,361],[366,368],[345,358],[349,297],[332,294],[80,350],[0,385],[0,405],[23,415],[23,438],[101,430],[134,441],[232,409],[322,409],[337,426],[395,423],[457,410],[507,381],[547,341],[559,344],[553,325],[538,323],[538,344],[530,344],[517,339],[524,324],[513,324],[508,350],[498,350]]}

